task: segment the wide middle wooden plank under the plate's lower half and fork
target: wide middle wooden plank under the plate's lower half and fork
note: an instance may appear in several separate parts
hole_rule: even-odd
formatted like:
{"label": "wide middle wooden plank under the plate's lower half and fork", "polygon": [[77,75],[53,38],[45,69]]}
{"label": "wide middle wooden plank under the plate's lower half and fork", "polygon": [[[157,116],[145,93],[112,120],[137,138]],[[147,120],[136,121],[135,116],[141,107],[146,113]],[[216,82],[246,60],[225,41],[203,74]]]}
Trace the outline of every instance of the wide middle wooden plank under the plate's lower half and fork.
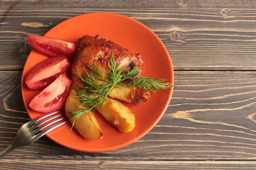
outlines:
{"label": "wide middle wooden plank under the plate's lower half and fork", "polygon": [[[0,71],[0,150],[29,121],[21,71]],[[47,137],[5,159],[255,160],[256,74],[251,71],[175,71],[173,97],[160,122],[142,139],[105,153],[62,147]],[[151,96],[153,97],[153,96]]]}

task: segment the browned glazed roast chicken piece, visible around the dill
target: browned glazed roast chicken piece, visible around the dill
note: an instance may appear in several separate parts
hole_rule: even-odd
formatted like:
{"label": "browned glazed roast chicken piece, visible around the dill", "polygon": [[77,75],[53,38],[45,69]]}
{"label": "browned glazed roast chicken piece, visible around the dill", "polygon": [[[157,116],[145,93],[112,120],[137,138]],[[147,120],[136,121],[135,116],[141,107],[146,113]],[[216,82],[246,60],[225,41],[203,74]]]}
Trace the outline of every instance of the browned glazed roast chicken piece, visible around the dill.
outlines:
{"label": "browned glazed roast chicken piece, visible around the dill", "polygon": [[[111,41],[102,39],[99,35],[90,37],[85,35],[80,38],[76,43],[75,58],[72,64],[72,69],[79,75],[83,75],[86,71],[89,71],[86,65],[96,64],[101,69],[105,77],[108,77],[108,60],[113,53],[116,63],[119,63],[119,69],[124,68],[124,71],[131,70],[137,65],[137,68],[141,70],[143,66],[143,59],[140,54],[129,54],[128,49],[122,48]],[[85,69],[85,70],[84,70]],[[140,73],[138,73],[140,74]],[[83,86],[80,79],[72,72],[72,87]],[[138,105],[140,102],[145,102],[148,97],[154,94],[154,91],[146,91],[140,87],[115,87],[109,94],[112,99],[119,99],[124,102],[134,103]]]}

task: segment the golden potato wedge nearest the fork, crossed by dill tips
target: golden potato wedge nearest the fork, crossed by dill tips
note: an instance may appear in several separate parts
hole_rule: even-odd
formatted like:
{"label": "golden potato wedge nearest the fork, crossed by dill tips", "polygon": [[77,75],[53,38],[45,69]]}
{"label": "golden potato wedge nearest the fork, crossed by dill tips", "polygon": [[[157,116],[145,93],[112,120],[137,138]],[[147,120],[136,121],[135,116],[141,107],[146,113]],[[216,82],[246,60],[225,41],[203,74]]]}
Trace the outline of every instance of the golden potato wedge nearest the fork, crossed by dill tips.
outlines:
{"label": "golden potato wedge nearest the fork, crossed by dill tips", "polygon": [[[75,94],[70,91],[65,105],[66,114],[69,120],[71,119],[69,112],[78,111],[78,108],[74,103],[78,103],[78,99]],[[79,107],[83,108],[82,106]],[[84,136],[87,139],[99,139],[102,136],[102,130],[92,112],[84,114],[77,119],[74,123],[74,127],[81,134],[81,136]]]}

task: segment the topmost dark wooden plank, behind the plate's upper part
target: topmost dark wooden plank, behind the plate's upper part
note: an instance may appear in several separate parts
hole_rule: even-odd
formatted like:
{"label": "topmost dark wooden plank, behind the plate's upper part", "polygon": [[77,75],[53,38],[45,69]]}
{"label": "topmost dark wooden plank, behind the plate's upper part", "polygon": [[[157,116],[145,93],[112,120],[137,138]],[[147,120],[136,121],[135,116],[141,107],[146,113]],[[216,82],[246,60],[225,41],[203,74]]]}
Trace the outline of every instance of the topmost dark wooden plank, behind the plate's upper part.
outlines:
{"label": "topmost dark wooden plank, behind the plate's upper part", "polygon": [[124,14],[151,28],[166,45],[176,70],[256,69],[256,1],[8,0],[1,4],[1,70],[23,68],[32,49],[27,34],[45,34],[70,17],[90,12]]}

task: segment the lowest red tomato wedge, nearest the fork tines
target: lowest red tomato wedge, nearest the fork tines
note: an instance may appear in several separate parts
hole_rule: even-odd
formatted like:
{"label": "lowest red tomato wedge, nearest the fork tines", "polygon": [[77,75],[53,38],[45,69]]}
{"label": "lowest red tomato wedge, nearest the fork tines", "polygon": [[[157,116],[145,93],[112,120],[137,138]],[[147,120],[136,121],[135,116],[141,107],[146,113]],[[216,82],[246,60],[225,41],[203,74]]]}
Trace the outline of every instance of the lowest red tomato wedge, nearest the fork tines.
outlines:
{"label": "lowest red tomato wedge, nearest the fork tines", "polygon": [[29,107],[38,112],[49,113],[64,108],[70,93],[71,80],[66,74],[61,74],[52,84],[41,91],[29,103]]}

